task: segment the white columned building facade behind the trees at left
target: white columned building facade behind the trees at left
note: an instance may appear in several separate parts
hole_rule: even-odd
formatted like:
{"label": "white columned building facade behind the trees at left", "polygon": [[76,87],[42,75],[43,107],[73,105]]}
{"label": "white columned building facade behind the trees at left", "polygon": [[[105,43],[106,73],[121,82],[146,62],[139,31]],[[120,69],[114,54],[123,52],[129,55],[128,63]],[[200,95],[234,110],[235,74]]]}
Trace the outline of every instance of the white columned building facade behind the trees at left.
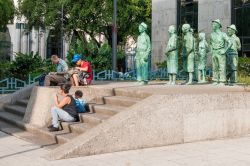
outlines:
{"label": "white columned building facade behind the trees at left", "polygon": [[[13,1],[15,6],[18,0]],[[4,60],[15,59],[16,53],[38,53],[43,59],[52,54],[65,57],[69,50],[70,39],[61,35],[54,28],[26,29],[25,18],[15,17],[7,25],[6,32],[0,32],[0,56]],[[62,44],[63,43],[63,44]]]}

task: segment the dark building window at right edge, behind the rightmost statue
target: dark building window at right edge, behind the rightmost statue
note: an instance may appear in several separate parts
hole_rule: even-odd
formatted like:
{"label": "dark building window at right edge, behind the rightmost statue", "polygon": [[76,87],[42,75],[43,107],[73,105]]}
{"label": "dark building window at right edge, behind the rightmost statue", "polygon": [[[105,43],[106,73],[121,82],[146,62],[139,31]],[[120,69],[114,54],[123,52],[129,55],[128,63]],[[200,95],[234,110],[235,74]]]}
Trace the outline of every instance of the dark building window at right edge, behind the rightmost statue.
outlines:
{"label": "dark building window at right edge, behind the rightmost statue", "polygon": [[232,0],[232,23],[242,43],[240,54],[250,57],[250,0]]}

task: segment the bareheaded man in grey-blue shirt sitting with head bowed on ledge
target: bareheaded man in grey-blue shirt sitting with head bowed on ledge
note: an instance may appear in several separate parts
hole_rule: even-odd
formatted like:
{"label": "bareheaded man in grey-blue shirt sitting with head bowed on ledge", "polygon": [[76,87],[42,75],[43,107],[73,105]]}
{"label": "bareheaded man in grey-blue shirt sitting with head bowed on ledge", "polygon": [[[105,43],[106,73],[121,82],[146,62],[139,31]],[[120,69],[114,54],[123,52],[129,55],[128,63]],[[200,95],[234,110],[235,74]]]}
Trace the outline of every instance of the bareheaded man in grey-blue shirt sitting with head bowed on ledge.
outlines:
{"label": "bareheaded man in grey-blue shirt sitting with head bowed on ledge", "polygon": [[67,82],[69,69],[67,63],[59,58],[58,55],[52,55],[51,61],[56,65],[56,72],[50,72],[45,77],[44,86],[56,86]]}

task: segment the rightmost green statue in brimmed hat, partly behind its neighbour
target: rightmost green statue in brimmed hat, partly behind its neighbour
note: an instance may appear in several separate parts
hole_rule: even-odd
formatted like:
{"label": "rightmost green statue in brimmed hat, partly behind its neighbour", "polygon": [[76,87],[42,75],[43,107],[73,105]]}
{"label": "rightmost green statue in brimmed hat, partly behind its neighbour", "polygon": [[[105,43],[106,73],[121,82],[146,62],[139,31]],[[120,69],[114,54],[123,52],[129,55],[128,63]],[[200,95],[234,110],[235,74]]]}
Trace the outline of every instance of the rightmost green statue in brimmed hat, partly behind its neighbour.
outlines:
{"label": "rightmost green statue in brimmed hat, partly behind its neighbour", "polygon": [[241,50],[241,43],[236,33],[235,25],[227,27],[227,34],[232,43],[232,47],[227,51],[227,82],[229,85],[237,82],[238,51]]}

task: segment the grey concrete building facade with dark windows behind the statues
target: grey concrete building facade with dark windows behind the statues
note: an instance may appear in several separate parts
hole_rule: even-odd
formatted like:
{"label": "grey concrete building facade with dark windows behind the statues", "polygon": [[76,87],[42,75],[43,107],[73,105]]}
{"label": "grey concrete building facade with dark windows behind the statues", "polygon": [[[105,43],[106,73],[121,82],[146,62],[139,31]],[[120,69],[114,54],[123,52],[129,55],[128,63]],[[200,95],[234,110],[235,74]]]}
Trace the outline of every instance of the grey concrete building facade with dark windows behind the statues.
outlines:
{"label": "grey concrete building facade with dark windows behind the statues", "polygon": [[176,25],[180,33],[182,24],[189,23],[196,32],[209,37],[211,21],[217,18],[223,31],[231,24],[237,26],[242,42],[240,55],[250,57],[250,0],[152,0],[152,68],[166,60],[170,25]]}

